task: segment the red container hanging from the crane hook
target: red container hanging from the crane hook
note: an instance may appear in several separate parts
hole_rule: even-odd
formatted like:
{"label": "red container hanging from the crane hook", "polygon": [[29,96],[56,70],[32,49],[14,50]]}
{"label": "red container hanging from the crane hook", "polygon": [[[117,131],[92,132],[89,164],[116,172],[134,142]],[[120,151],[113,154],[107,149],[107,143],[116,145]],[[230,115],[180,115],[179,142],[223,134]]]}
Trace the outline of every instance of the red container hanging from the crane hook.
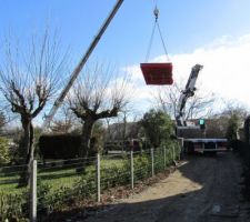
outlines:
{"label": "red container hanging from the crane hook", "polygon": [[172,63],[141,63],[147,84],[172,84]]}

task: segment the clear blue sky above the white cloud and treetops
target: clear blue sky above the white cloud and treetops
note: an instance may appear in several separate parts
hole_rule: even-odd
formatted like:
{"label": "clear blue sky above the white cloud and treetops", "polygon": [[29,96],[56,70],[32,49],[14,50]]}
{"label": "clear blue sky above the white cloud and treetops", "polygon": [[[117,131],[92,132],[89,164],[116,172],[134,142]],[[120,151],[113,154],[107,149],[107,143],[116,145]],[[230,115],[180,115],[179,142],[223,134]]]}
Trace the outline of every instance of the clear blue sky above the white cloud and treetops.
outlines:
{"label": "clear blue sky above the white cloud and treetops", "polygon": [[[39,32],[47,23],[59,29],[62,43],[76,58],[97,33],[114,0],[1,1],[1,33],[18,38]],[[144,60],[153,24],[153,0],[124,0],[94,56],[119,63]],[[240,37],[250,30],[249,0],[158,0],[160,26],[170,54],[193,49],[222,36]],[[152,57],[162,53],[153,42]]]}

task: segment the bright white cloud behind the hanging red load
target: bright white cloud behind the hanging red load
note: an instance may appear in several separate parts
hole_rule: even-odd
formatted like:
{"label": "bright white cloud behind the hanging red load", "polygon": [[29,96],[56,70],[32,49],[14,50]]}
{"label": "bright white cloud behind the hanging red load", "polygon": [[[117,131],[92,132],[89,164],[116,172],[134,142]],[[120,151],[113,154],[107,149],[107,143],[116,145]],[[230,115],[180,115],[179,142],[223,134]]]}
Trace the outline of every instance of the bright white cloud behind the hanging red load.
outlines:
{"label": "bright white cloud behind the hanging red load", "polygon": [[[238,39],[222,37],[191,53],[170,54],[173,63],[173,79],[188,80],[191,68],[200,63],[203,70],[199,75],[200,91],[214,92],[218,98],[233,99],[250,107],[250,34]],[[159,56],[152,62],[164,62],[166,56]],[[137,82],[137,97],[150,99],[157,87],[146,87],[139,65],[127,71]],[[199,84],[198,83],[198,84]]]}

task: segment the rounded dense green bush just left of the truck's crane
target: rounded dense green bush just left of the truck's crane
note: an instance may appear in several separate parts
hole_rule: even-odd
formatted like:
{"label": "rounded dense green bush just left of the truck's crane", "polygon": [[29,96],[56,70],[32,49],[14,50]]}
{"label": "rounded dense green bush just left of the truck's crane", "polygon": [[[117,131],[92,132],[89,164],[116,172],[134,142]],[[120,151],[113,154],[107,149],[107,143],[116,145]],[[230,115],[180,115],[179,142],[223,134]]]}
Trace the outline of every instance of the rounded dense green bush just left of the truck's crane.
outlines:
{"label": "rounded dense green bush just left of the truck's crane", "polygon": [[150,110],[141,120],[146,137],[154,148],[170,140],[173,134],[173,123],[168,114],[160,110]]}

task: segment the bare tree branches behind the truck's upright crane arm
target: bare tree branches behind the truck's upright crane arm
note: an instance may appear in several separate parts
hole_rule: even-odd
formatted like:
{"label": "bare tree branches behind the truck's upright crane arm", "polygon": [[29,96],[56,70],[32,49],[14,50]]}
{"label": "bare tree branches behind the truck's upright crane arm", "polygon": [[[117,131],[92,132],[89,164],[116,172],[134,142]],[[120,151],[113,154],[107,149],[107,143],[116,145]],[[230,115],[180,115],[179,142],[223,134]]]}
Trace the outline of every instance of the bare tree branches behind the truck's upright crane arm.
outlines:
{"label": "bare tree branches behind the truck's upright crane arm", "polygon": [[[174,118],[178,113],[178,102],[181,94],[180,84],[174,82],[168,88],[159,88],[156,95],[158,107],[164,112]],[[184,119],[199,119],[210,115],[212,112],[211,104],[214,102],[214,97],[211,93],[202,94],[196,91],[194,95],[189,98],[184,107]]]}

